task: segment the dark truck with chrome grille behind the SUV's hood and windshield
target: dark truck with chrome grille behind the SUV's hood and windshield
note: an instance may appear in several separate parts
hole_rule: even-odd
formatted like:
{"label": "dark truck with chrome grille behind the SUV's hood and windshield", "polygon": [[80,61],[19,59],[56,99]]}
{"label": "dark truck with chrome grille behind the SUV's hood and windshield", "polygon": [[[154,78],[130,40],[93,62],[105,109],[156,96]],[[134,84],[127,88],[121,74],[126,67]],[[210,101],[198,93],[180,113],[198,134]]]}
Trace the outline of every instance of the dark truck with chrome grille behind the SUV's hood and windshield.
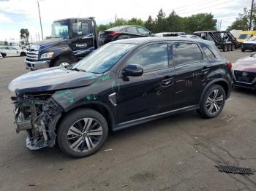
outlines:
{"label": "dark truck with chrome grille behind the SUV's hood and windshield", "polygon": [[29,45],[26,69],[68,66],[99,47],[94,17],[53,22],[51,38]]}

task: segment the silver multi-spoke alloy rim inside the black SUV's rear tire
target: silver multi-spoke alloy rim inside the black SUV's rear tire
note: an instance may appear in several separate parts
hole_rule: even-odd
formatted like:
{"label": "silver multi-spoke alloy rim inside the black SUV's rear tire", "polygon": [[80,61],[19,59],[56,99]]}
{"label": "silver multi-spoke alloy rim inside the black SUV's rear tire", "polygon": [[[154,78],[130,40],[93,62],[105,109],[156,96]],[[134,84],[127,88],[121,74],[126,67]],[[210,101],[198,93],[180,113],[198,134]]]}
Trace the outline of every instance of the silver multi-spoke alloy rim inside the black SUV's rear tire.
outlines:
{"label": "silver multi-spoke alloy rim inside the black SUV's rear tire", "polygon": [[222,91],[220,90],[213,90],[207,98],[206,101],[206,109],[210,114],[216,114],[222,109],[224,103],[224,96]]}

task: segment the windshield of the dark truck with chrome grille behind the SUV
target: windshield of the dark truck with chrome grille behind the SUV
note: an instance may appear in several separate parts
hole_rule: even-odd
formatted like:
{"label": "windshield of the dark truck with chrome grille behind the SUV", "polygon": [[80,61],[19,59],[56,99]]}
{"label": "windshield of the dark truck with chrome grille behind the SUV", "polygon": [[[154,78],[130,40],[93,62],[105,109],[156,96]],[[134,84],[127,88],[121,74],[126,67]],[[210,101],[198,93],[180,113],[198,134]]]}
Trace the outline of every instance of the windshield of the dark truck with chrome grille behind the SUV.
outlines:
{"label": "windshield of the dark truck with chrome grille behind the SUV", "polygon": [[69,21],[59,21],[54,22],[51,29],[51,37],[52,38],[69,38]]}

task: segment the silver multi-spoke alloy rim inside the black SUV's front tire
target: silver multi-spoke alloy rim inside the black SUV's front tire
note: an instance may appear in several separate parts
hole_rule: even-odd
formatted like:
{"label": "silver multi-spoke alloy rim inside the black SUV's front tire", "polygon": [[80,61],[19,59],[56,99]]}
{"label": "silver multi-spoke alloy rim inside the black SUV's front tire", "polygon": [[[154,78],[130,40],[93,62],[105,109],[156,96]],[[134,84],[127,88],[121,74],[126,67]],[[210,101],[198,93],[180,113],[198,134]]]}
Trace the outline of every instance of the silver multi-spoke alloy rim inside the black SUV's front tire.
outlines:
{"label": "silver multi-spoke alloy rim inside the black SUV's front tire", "polygon": [[67,132],[67,144],[75,152],[88,152],[102,140],[102,125],[93,118],[75,122]]}

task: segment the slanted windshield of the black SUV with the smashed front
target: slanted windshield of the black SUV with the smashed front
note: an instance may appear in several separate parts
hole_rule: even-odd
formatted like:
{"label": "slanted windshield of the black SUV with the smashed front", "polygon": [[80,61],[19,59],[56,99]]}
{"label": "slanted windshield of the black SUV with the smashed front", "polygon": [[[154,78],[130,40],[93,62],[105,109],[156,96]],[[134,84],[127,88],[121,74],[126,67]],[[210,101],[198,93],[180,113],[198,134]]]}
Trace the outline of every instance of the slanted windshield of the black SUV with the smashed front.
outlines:
{"label": "slanted windshield of the black SUV with the smashed front", "polygon": [[111,69],[124,55],[135,47],[135,44],[105,44],[103,47],[91,52],[72,68],[89,71],[96,74],[104,73]]}

